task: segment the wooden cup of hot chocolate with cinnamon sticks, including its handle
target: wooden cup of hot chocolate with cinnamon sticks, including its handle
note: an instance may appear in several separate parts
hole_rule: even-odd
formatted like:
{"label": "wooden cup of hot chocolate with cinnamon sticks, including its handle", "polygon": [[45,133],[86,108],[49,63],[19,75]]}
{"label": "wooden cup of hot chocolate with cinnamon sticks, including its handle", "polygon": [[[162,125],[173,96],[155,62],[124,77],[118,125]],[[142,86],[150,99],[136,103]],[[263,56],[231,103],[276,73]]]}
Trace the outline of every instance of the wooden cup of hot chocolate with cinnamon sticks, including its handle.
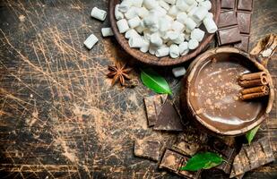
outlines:
{"label": "wooden cup of hot chocolate with cinnamon sticks, including its handle", "polygon": [[[221,135],[241,135],[264,121],[274,98],[266,64],[274,53],[277,38],[268,36],[263,40],[271,44],[255,47],[252,55],[234,47],[219,47],[204,52],[190,64],[181,93],[187,119]],[[273,49],[266,54],[269,48]],[[266,79],[254,81],[259,76]],[[250,81],[241,81],[246,78]],[[242,85],[245,83],[247,89]]]}

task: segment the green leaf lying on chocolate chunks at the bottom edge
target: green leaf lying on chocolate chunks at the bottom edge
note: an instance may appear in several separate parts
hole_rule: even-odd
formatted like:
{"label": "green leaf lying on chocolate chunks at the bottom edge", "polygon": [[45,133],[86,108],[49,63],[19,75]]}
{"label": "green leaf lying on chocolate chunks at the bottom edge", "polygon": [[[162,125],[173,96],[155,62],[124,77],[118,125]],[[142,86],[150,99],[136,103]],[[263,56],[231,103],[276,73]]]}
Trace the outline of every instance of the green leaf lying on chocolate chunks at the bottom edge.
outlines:
{"label": "green leaf lying on chocolate chunks at the bottom edge", "polygon": [[180,170],[197,171],[200,169],[210,169],[213,166],[218,166],[223,162],[223,158],[216,153],[203,152],[198,153],[190,158],[186,166],[182,166]]}

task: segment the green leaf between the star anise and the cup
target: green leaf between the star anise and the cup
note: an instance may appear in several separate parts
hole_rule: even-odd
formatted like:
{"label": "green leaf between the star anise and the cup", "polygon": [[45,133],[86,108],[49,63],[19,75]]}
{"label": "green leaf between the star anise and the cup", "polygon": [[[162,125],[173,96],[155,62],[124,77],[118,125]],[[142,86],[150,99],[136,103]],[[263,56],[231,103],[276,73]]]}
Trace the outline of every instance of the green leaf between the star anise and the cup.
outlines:
{"label": "green leaf between the star anise and the cup", "polygon": [[157,93],[172,94],[169,83],[150,68],[141,69],[141,79],[146,87]]}

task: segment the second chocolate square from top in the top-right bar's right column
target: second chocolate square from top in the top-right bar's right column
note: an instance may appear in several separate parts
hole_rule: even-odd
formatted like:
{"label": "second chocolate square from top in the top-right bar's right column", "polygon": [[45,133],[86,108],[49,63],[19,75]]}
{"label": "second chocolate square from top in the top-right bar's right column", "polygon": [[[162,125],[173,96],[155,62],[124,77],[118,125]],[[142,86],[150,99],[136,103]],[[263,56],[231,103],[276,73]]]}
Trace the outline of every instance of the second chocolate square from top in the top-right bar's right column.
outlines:
{"label": "second chocolate square from top in the top-right bar's right column", "polygon": [[246,12],[238,12],[237,13],[238,19],[238,28],[240,33],[250,33],[250,24],[251,24],[251,13]]}

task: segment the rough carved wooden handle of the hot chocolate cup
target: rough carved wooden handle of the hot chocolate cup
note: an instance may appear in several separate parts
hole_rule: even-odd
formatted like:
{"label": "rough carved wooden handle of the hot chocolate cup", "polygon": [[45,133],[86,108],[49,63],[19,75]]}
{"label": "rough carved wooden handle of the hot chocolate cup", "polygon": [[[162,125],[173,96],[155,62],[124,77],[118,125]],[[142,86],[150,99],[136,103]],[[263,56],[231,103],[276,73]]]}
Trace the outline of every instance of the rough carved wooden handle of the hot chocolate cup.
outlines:
{"label": "rough carved wooden handle of the hot chocolate cup", "polygon": [[277,35],[268,34],[261,38],[255,47],[251,50],[250,55],[255,57],[255,60],[267,67],[268,61],[277,49]]}

